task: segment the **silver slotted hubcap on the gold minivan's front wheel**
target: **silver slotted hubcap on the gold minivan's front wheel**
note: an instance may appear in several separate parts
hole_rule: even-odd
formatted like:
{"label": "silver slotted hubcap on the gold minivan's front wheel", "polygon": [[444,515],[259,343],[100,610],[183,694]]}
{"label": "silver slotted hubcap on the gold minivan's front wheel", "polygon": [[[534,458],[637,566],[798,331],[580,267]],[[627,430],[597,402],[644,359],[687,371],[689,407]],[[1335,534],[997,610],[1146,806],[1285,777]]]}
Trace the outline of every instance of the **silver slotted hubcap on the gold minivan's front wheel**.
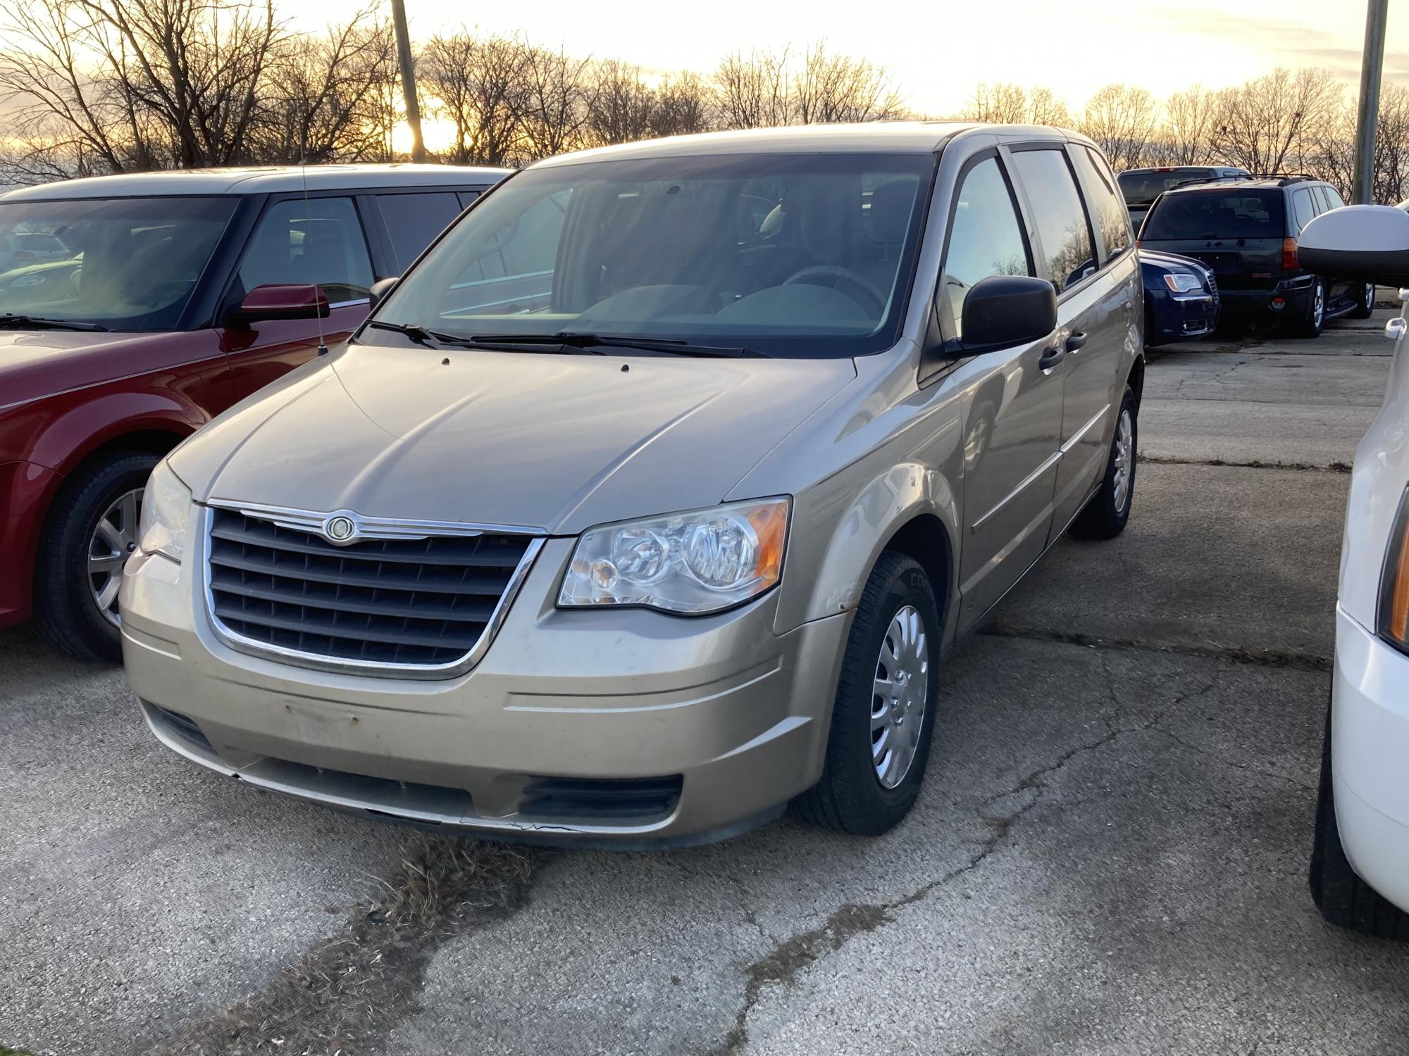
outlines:
{"label": "silver slotted hubcap on the gold minivan's front wheel", "polygon": [[871,763],[876,780],[895,788],[910,772],[920,746],[930,693],[930,645],[913,605],[890,618],[871,691]]}

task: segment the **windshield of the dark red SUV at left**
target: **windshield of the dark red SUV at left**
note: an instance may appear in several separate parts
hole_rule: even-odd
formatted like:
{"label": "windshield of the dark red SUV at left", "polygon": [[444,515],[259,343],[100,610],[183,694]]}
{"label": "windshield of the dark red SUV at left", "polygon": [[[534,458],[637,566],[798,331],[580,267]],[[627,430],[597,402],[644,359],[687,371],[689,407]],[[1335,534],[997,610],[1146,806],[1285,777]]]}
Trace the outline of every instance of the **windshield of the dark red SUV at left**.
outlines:
{"label": "windshield of the dark red SUV at left", "polygon": [[175,329],[234,208],[230,196],[0,201],[0,315]]}

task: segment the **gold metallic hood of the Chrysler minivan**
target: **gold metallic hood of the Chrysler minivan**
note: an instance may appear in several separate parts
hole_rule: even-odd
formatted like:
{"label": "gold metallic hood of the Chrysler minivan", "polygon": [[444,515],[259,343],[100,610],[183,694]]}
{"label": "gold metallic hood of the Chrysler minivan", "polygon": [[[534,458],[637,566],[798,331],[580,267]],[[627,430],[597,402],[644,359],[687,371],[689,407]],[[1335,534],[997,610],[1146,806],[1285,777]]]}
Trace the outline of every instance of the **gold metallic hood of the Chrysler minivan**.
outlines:
{"label": "gold metallic hood of the Chrysler minivan", "polygon": [[721,501],[850,359],[351,345],[172,456],[197,500],[576,534]]}

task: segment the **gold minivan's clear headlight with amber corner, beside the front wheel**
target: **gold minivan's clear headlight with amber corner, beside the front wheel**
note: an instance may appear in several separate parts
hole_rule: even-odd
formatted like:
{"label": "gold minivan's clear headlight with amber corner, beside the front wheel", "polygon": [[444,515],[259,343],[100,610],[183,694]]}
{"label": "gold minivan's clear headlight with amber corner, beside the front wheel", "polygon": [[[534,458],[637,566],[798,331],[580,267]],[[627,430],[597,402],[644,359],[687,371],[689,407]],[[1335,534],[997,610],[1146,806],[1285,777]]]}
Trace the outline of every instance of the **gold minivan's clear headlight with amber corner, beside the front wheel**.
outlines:
{"label": "gold minivan's clear headlight with amber corner, beside the front wheel", "polygon": [[778,582],[788,498],[592,528],[578,541],[559,605],[716,612]]}

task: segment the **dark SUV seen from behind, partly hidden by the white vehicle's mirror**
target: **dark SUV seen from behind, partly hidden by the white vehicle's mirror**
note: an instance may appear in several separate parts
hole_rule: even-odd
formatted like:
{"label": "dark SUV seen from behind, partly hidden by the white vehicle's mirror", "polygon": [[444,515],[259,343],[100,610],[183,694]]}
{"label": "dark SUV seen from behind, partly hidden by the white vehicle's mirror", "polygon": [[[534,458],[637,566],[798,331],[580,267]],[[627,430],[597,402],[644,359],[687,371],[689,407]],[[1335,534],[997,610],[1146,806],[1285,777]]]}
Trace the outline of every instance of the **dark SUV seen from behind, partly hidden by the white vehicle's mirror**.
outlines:
{"label": "dark SUV seen from behind, partly hidden by the white vehicle's mirror", "polygon": [[1296,239],[1313,217],[1344,206],[1315,176],[1257,176],[1175,187],[1155,199],[1140,246],[1192,256],[1213,269],[1226,317],[1274,318],[1313,338],[1336,315],[1370,318],[1375,287],[1313,275]]}

